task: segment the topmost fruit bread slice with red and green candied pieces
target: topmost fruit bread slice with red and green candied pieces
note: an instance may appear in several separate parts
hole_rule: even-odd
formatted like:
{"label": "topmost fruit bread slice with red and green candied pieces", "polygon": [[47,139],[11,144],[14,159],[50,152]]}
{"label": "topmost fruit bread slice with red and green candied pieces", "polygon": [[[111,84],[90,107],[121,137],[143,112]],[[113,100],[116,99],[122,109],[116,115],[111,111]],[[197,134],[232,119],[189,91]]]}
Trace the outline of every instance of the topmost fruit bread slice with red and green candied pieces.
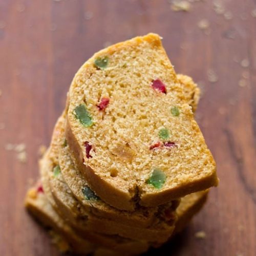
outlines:
{"label": "topmost fruit bread slice with red and green candied pieces", "polygon": [[106,203],[135,210],[218,184],[215,161],[160,37],[106,48],[76,73],[66,138]]}

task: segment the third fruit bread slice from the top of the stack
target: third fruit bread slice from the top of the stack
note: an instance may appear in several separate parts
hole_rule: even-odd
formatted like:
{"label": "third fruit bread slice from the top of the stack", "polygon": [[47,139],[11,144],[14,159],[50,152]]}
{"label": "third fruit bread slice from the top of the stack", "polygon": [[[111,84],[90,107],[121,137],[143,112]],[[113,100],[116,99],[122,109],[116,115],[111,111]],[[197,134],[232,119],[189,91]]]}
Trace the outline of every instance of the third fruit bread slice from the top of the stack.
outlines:
{"label": "third fruit bread slice from the top of the stack", "polygon": [[[147,242],[135,241],[133,239],[125,239],[125,238],[121,238],[118,235],[113,236],[113,235],[107,235],[107,234],[105,235],[105,234],[98,233],[98,231],[100,231],[101,229],[104,230],[104,228],[106,227],[110,229],[109,225],[105,225],[104,224],[105,220],[102,220],[102,219],[98,221],[96,219],[96,221],[94,221],[93,217],[91,217],[91,220],[89,220],[88,222],[86,221],[87,218],[89,217],[88,212],[80,210],[80,206],[74,200],[74,198],[71,195],[66,194],[67,191],[68,191],[67,193],[70,193],[70,194],[71,192],[68,189],[67,185],[62,181],[61,174],[56,176],[56,173],[55,173],[56,177],[52,180],[52,183],[54,185],[52,186],[52,189],[54,190],[51,191],[48,173],[49,173],[49,170],[52,170],[53,163],[48,156],[49,156],[49,151],[46,152],[46,154],[40,161],[40,174],[41,174],[42,187],[45,192],[45,195],[49,199],[49,202],[51,202],[53,208],[58,212],[58,214],[61,216],[62,219],[65,219],[67,223],[75,227],[77,231],[80,231],[83,238],[87,239],[92,243],[99,244],[103,247],[115,248],[115,250],[118,250],[118,248],[120,248],[120,250],[122,250],[124,246],[123,244],[126,244],[127,241],[129,241],[129,244],[134,243],[137,247],[139,246],[139,248],[145,247],[145,244],[147,244]],[[56,195],[56,196],[53,198],[52,195],[54,196]],[[67,201],[64,203],[62,202],[62,200],[67,200]],[[85,222],[87,222],[89,226],[88,228],[91,229],[90,231],[88,231],[88,228],[86,229],[82,227],[84,226]],[[103,224],[103,227],[100,226],[96,228],[94,224],[98,226]],[[119,229],[120,228],[123,228],[123,226],[119,226]],[[96,230],[96,232],[93,232],[92,230]],[[116,244],[115,241],[118,241],[118,244]]]}

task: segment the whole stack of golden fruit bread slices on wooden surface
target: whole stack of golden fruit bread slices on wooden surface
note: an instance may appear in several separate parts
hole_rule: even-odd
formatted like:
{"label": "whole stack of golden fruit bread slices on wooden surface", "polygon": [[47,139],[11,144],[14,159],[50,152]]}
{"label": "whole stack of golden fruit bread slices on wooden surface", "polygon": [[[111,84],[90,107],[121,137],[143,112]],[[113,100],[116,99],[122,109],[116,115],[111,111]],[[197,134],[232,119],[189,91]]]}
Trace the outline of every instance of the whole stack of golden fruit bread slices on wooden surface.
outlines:
{"label": "whole stack of golden fruit bread slices on wooden surface", "polygon": [[140,254],[182,230],[218,184],[198,100],[156,34],[84,63],[25,200],[61,250]]}

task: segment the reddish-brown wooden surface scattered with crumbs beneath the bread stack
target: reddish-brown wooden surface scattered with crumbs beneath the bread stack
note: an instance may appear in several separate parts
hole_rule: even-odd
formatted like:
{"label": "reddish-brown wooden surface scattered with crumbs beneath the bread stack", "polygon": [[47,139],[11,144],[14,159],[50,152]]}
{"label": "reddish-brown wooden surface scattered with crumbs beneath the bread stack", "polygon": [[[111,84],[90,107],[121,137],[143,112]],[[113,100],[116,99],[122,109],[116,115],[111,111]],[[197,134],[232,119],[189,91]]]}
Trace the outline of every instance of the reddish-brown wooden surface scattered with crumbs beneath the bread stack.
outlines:
{"label": "reddish-brown wooden surface scattered with crumbs beneath the bread stack", "polygon": [[[194,222],[152,254],[256,255],[256,1],[221,2],[231,19],[212,1],[189,12],[166,0],[0,1],[0,255],[57,255],[23,207],[38,147],[49,144],[80,65],[106,44],[147,32],[163,36],[176,71],[201,84],[198,121],[220,178]],[[26,163],[9,143],[26,144]],[[205,239],[195,238],[200,230]]]}

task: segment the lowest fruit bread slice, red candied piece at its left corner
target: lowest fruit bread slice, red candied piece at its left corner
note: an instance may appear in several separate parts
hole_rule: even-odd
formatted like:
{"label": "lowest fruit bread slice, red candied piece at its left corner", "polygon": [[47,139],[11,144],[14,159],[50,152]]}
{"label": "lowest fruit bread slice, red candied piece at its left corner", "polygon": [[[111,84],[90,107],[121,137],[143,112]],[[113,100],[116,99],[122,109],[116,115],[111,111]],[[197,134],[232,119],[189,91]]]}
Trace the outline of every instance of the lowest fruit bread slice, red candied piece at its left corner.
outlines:
{"label": "lowest fruit bread slice, red candied piece at its left corner", "polygon": [[[50,227],[57,232],[60,237],[63,237],[69,245],[70,250],[79,254],[88,254],[93,252],[95,249],[103,250],[101,244],[92,244],[87,240],[82,239],[78,234],[59,217],[57,212],[54,210],[50,202],[48,201],[44,190],[40,185],[32,187],[28,190],[25,199],[25,206],[31,212],[31,214],[38,219],[42,224]],[[104,237],[102,236],[102,239]],[[139,254],[143,253],[148,249],[148,244],[115,237],[105,237],[105,246],[108,249],[122,252],[124,254]]]}

